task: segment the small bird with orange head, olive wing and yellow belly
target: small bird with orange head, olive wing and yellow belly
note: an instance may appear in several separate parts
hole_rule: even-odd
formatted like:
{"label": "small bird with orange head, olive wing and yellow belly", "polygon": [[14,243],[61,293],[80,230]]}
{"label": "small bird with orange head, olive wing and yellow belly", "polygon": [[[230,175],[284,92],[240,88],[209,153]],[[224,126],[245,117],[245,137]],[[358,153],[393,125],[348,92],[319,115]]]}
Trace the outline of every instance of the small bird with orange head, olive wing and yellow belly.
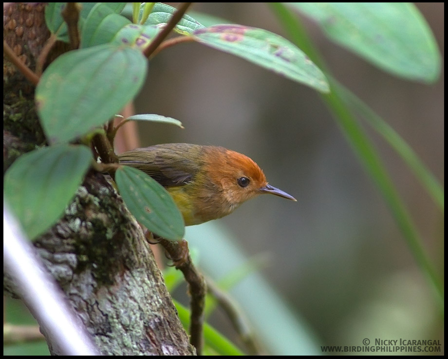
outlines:
{"label": "small bird with orange head, olive wing and yellow belly", "polygon": [[118,157],[121,164],[145,172],[164,186],[187,226],[227,216],[263,193],[296,201],[268,184],[257,163],[224,147],[166,143]]}

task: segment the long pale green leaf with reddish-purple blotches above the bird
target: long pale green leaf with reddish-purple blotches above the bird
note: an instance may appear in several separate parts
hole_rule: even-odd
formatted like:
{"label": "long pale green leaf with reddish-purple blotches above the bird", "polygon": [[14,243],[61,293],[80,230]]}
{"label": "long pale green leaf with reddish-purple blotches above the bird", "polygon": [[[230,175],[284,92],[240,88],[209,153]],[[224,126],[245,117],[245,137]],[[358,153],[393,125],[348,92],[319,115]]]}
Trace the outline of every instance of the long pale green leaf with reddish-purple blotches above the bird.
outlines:
{"label": "long pale green leaf with reddish-purple blotches above the bird", "polygon": [[193,39],[251,61],[321,92],[329,92],[322,71],[294,44],[269,31],[243,25],[216,25],[195,31]]}

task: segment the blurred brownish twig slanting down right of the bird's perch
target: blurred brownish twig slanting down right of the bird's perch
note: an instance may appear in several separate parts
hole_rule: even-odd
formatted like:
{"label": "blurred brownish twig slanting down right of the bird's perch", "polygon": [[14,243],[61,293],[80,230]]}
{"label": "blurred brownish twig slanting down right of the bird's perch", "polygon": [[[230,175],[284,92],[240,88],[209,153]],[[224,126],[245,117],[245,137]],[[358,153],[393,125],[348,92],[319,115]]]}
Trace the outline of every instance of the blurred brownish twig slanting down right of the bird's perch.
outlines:
{"label": "blurred brownish twig slanting down right of the bird's perch", "polygon": [[224,312],[232,322],[234,329],[246,345],[248,354],[266,355],[261,349],[260,344],[257,342],[249,321],[235,301],[226,292],[221,290],[211,279],[207,278],[206,283],[208,293],[211,294],[224,309]]}

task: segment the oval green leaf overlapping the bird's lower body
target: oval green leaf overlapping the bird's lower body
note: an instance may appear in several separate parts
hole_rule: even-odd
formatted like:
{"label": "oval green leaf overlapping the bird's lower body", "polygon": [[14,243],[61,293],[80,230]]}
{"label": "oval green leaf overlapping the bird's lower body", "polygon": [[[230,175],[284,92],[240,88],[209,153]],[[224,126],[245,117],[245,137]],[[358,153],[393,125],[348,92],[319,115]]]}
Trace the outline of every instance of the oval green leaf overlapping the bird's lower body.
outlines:
{"label": "oval green leaf overlapping the bird's lower body", "polygon": [[149,231],[166,239],[182,239],[184,219],[167,190],[140,170],[122,166],[115,172],[121,197],[132,215]]}

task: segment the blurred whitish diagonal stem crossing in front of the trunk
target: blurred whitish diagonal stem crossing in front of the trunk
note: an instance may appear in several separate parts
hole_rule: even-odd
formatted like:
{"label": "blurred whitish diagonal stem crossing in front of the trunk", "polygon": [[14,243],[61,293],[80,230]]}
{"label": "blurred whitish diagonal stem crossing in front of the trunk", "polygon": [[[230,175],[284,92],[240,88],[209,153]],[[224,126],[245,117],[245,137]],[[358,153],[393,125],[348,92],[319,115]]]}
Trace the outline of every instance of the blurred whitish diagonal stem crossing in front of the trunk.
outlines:
{"label": "blurred whitish diagonal stem crossing in front of the trunk", "polygon": [[3,203],[3,265],[20,297],[63,355],[97,355],[98,350],[35,248]]}

